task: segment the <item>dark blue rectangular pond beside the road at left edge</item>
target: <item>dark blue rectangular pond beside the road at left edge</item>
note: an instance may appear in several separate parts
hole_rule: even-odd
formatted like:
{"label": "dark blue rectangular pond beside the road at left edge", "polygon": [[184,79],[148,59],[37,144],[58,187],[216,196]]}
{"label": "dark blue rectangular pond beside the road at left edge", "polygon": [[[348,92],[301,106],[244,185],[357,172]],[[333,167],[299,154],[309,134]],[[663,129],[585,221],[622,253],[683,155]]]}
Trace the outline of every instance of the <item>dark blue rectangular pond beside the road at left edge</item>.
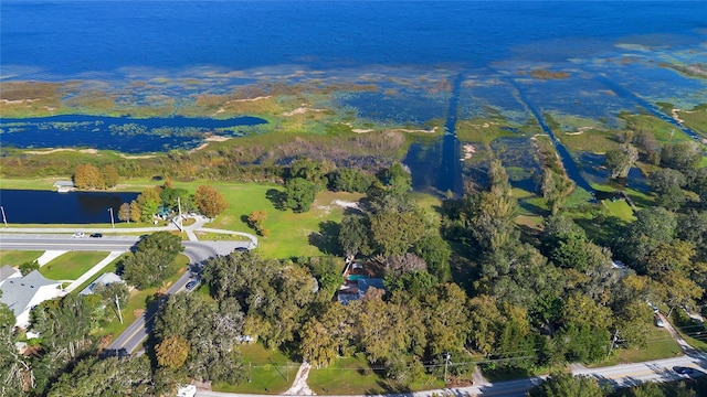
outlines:
{"label": "dark blue rectangular pond beside the road at left edge", "polygon": [[113,208],[117,223],[120,205],[138,194],[0,190],[0,205],[10,224],[110,224],[108,208]]}

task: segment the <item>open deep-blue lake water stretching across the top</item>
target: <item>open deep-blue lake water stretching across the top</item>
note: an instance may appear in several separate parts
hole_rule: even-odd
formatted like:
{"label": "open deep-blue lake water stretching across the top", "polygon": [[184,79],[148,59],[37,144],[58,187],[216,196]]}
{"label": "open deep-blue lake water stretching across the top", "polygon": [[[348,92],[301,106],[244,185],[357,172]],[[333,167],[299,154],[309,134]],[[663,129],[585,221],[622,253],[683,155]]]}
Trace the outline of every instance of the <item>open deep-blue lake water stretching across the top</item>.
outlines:
{"label": "open deep-blue lake water stretching across the top", "polygon": [[[215,67],[557,62],[619,43],[704,43],[703,1],[19,1],[0,4],[3,78]],[[704,46],[703,46],[703,50]]]}

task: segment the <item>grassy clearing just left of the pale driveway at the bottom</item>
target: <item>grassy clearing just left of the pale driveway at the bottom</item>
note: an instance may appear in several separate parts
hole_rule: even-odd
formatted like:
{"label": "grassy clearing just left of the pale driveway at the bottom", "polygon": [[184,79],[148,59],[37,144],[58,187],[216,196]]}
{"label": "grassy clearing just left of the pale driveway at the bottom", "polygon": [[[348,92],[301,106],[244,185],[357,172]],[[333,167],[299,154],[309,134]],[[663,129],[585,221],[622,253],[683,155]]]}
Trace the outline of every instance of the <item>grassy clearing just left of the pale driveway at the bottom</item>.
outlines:
{"label": "grassy clearing just left of the pale driveway at the bottom", "polygon": [[[246,380],[240,385],[214,383],[214,391],[281,394],[289,388],[299,368],[276,350],[267,350],[260,343],[240,347]],[[250,382],[247,379],[250,378]]]}

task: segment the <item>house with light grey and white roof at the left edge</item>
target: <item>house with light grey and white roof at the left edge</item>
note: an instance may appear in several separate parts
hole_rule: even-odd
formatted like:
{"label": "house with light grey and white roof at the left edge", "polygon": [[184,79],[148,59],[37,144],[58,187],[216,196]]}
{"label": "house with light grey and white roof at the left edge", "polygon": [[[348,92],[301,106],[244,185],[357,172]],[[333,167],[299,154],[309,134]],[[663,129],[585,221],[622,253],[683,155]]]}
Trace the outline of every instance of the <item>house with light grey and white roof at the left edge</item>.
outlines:
{"label": "house with light grey and white roof at the left edge", "polygon": [[48,280],[38,270],[24,277],[10,277],[0,285],[0,302],[14,313],[15,326],[30,325],[30,311],[35,305],[65,294],[59,281]]}

